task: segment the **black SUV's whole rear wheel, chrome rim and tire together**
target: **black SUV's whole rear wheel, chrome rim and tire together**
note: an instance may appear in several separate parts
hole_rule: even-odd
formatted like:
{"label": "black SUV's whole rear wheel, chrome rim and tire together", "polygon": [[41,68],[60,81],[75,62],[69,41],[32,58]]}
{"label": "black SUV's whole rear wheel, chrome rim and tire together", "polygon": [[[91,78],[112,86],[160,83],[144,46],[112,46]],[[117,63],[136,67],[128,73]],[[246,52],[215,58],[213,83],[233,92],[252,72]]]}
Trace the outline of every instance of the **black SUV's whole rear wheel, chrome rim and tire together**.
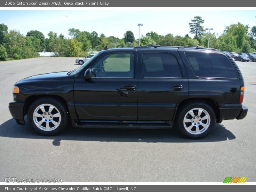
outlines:
{"label": "black SUV's whole rear wheel, chrome rim and tire together", "polygon": [[201,139],[208,135],[216,122],[211,106],[203,102],[190,102],[179,107],[175,126],[186,137]]}

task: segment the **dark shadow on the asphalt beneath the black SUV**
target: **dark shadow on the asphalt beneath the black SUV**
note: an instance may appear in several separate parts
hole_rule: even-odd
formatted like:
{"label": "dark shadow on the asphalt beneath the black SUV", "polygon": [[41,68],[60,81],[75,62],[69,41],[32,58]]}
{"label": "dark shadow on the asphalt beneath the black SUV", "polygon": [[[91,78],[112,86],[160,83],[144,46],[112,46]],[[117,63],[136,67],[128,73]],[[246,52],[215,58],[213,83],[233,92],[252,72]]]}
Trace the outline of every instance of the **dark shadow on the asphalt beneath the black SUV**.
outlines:
{"label": "dark shadow on the asphalt beneath the black SUV", "polygon": [[[26,118],[25,118],[26,119]],[[207,137],[192,140],[183,137],[175,128],[172,129],[88,129],[68,127],[59,135],[41,136],[34,132],[25,120],[26,125],[16,124],[14,119],[9,119],[0,125],[0,137],[49,139],[52,144],[60,146],[61,140],[100,141],[100,142],[216,142],[233,140],[236,136],[222,124],[215,124],[215,128]]]}

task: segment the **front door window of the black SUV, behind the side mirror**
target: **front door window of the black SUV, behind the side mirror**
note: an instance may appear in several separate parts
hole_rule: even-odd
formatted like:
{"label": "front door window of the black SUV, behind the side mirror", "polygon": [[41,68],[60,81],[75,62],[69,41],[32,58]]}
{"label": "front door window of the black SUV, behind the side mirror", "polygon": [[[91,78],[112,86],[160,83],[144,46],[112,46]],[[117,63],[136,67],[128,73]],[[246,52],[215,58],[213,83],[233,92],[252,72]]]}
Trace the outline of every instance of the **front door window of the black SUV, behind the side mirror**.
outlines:
{"label": "front door window of the black SUV, behind the side mirror", "polygon": [[92,73],[100,78],[133,78],[134,59],[132,53],[105,55],[92,66]]}

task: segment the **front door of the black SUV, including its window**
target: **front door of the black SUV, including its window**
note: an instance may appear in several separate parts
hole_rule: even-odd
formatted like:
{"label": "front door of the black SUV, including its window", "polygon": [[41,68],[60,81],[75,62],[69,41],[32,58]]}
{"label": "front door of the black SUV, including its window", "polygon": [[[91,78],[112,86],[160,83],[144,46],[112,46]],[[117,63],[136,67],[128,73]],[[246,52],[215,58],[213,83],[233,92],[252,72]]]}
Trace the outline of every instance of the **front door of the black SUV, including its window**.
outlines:
{"label": "front door of the black SUV, including its window", "polygon": [[[76,112],[81,120],[137,120],[136,51],[108,52],[92,63],[92,79],[74,84]],[[93,61],[92,61],[93,62]]]}

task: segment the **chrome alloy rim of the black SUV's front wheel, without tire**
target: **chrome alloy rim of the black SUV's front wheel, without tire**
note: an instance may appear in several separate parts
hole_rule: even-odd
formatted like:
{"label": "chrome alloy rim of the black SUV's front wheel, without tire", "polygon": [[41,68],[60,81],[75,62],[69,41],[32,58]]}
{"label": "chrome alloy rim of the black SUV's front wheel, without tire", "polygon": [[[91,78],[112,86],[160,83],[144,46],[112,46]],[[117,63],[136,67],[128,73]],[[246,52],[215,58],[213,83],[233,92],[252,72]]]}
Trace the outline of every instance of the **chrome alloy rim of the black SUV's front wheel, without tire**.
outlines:
{"label": "chrome alloy rim of the black SUV's front wheel, without tire", "polygon": [[33,120],[39,129],[52,131],[60,125],[60,111],[51,104],[39,105],[34,110]]}

